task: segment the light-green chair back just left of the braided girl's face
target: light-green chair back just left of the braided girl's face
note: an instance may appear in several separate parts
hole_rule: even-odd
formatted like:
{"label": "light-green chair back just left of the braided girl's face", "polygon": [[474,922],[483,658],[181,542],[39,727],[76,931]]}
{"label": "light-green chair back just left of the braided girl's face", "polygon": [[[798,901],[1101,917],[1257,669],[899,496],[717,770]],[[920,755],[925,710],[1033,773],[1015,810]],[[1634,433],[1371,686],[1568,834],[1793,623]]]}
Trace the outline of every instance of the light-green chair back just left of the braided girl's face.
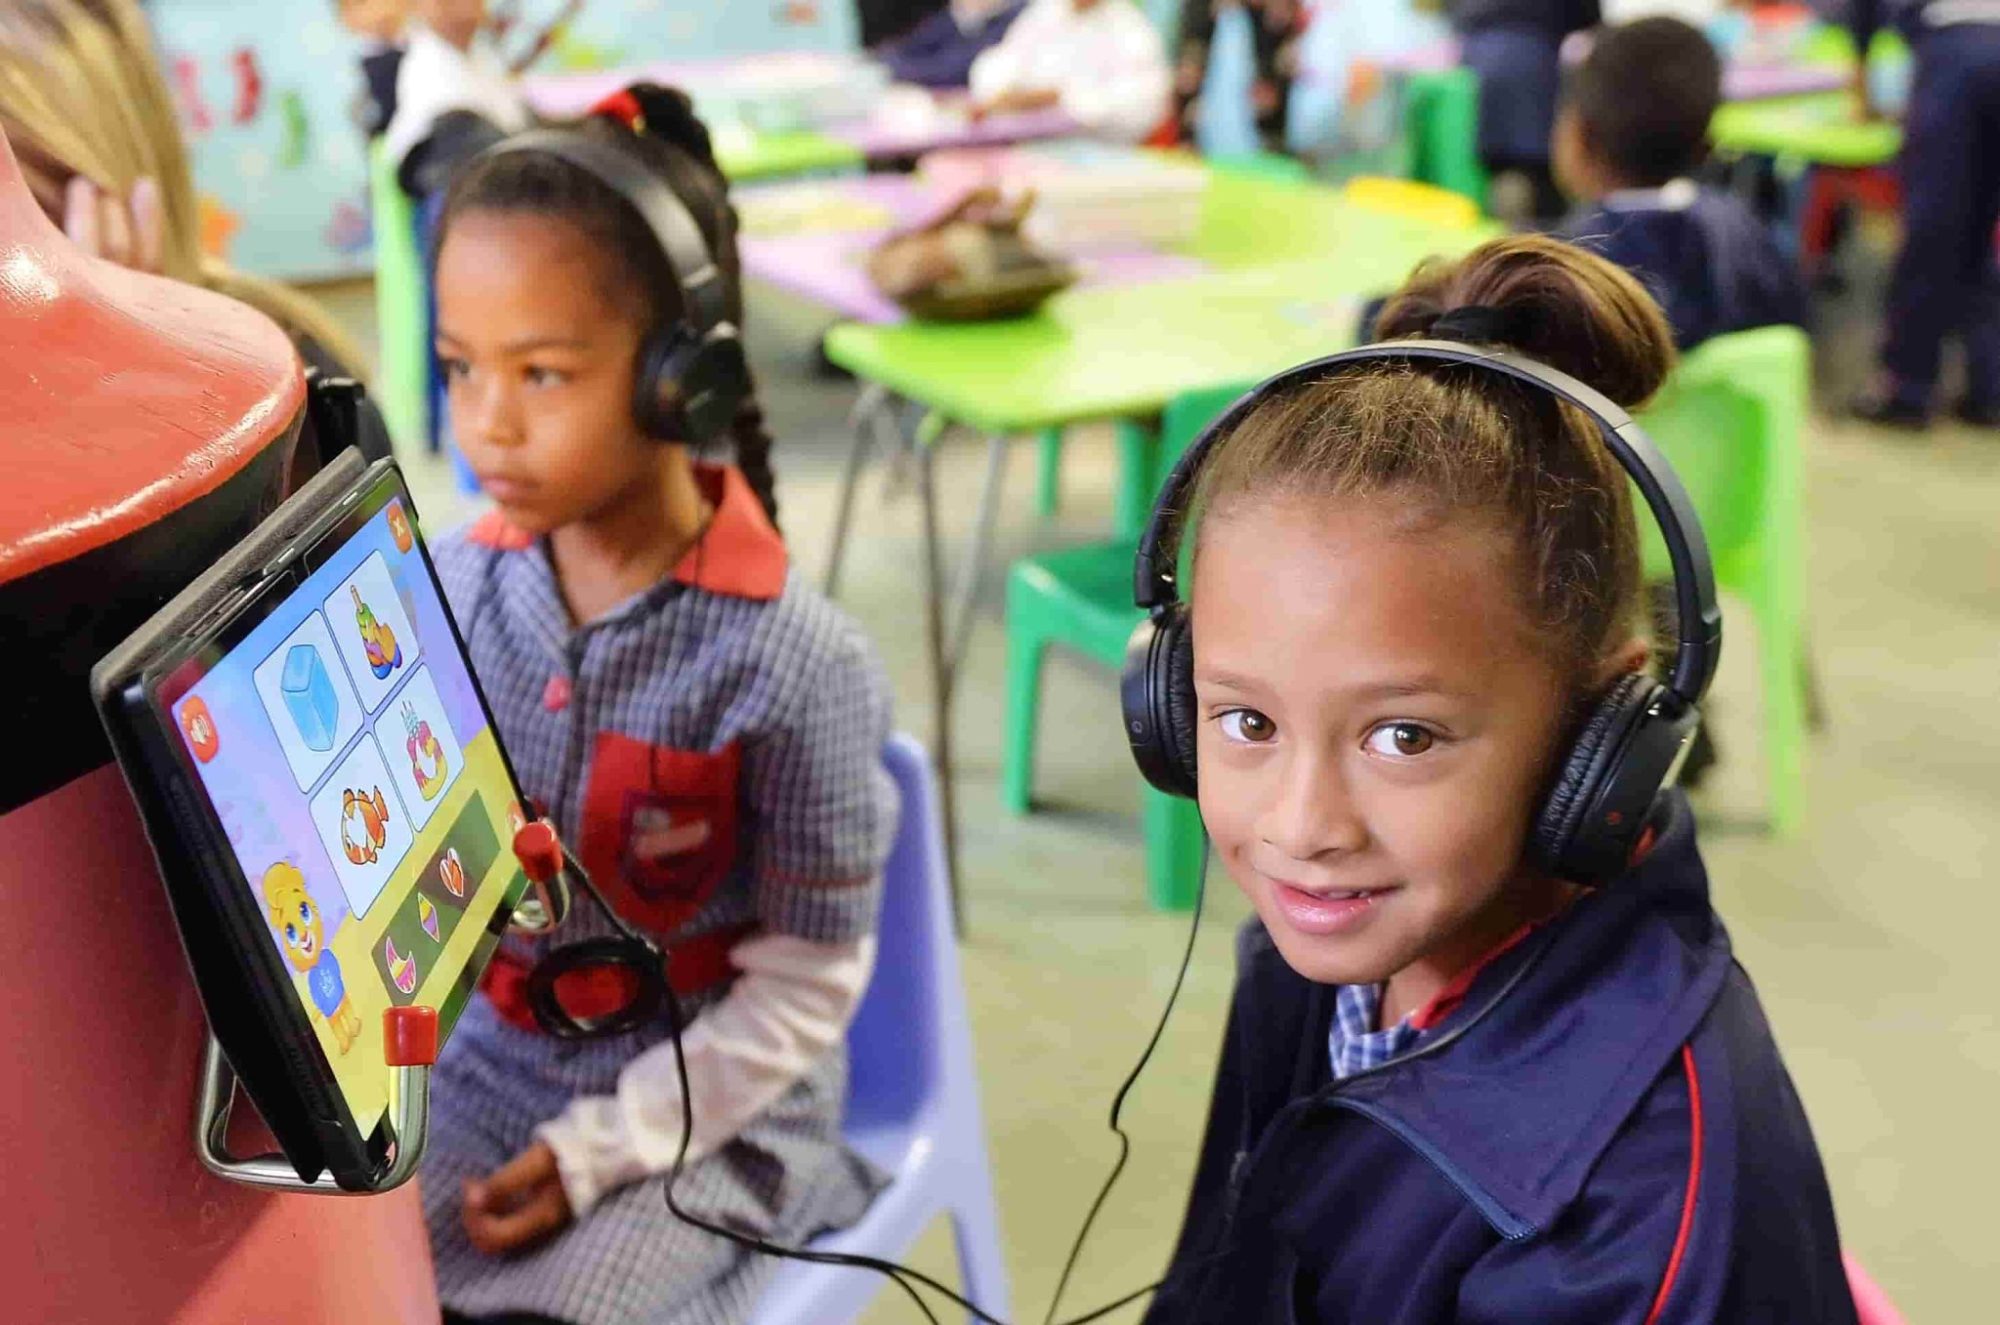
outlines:
{"label": "light-green chair back just left of the braided girl's face", "polygon": [[380,404],[396,446],[414,450],[430,440],[424,256],[416,250],[410,196],[396,182],[396,164],[380,140],[368,146],[368,194],[374,216],[376,338],[382,356],[370,394]]}

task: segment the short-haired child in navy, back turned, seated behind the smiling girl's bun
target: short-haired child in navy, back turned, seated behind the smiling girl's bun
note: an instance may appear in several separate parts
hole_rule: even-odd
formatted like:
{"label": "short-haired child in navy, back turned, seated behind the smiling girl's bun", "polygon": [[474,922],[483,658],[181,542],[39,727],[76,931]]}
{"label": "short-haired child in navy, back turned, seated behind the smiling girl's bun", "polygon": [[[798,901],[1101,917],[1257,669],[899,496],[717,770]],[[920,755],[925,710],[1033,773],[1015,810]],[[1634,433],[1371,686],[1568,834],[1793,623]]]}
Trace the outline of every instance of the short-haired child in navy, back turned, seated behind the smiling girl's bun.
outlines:
{"label": "short-haired child in navy, back turned, seated behind the smiling girl's bun", "polygon": [[1552,144],[1556,178],[1582,204],[1564,232],[1638,276],[1674,344],[1806,320],[1798,268],[1736,196],[1702,188],[1722,62],[1678,18],[1604,28],[1570,72]]}

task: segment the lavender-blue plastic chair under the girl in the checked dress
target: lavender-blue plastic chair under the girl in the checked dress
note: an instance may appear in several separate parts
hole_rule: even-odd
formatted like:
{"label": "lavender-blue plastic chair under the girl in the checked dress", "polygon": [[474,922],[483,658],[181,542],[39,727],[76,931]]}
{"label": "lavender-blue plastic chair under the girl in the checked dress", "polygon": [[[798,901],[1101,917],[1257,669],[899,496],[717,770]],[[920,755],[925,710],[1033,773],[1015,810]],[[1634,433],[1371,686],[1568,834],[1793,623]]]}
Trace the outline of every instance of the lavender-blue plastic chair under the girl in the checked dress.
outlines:
{"label": "lavender-blue plastic chair under the girl in the checked dress", "polygon": [[[960,1291],[988,1315],[1006,1319],[1000,1215],[972,1075],[972,1033],[958,979],[930,759],[910,737],[894,737],[882,763],[902,793],[902,823],[882,871],[876,979],[848,1029],[846,1137],[894,1181],[858,1225],[820,1237],[812,1247],[894,1261],[932,1219],[948,1213],[958,1241]],[[786,1261],[754,1321],[852,1321],[886,1287],[874,1271]]]}

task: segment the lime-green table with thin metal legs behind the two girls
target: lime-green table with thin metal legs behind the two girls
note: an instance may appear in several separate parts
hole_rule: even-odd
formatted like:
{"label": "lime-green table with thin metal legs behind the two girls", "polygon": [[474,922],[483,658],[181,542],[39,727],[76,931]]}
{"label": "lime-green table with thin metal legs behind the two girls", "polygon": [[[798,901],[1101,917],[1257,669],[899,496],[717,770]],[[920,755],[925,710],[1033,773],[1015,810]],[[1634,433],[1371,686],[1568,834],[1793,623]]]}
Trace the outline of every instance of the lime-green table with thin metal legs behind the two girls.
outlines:
{"label": "lime-green table with thin metal legs behind the two girls", "polygon": [[[1358,208],[1332,190],[1252,178],[1218,176],[1210,202],[1192,248],[1234,270],[1068,290],[1036,314],[1004,322],[846,322],[826,334],[826,356],[862,378],[866,392],[896,392],[928,410],[932,420],[928,434],[918,438],[916,480],[924,510],[932,731],[954,877],[952,693],[978,578],[992,548],[1008,436],[1096,418],[1152,416],[1184,390],[1262,378],[1346,348],[1356,338],[1366,296],[1394,288],[1426,256],[1464,252],[1498,234],[1484,222],[1442,228]],[[1248,266],[1258,256],[1266,264]],[[858,406],[856,418],[862,414]],[[936,440],[948,424],[986,434],[978,516],[950,600],[934,484]],[[1152,440],[1150,430],[1128,434],[1142,438],[1140,444]],[[858,436],[850,492],[852,468],[864,452]],[[1140,464],[1156,470],[1158,458]],[[848,516],[844,500],[838,522],[844,526]]]}

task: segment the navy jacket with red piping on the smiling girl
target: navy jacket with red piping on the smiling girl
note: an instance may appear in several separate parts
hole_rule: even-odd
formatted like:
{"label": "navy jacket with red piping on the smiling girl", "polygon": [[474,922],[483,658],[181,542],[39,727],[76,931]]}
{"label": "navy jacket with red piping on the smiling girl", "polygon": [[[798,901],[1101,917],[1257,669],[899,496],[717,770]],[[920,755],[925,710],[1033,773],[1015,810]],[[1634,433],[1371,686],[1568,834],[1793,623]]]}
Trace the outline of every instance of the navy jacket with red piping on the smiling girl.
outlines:
{"label": "navy jacket with red piping on the smiling girl", "polygon": [[1532,961],[1464,1039],[1344,1089],[1332,987],[1246,927],[1146,1319],[1854,1325],[1820,1155],[1678,793],[1658,829],[1642,865],[1492,961],[1426,1037]]}

